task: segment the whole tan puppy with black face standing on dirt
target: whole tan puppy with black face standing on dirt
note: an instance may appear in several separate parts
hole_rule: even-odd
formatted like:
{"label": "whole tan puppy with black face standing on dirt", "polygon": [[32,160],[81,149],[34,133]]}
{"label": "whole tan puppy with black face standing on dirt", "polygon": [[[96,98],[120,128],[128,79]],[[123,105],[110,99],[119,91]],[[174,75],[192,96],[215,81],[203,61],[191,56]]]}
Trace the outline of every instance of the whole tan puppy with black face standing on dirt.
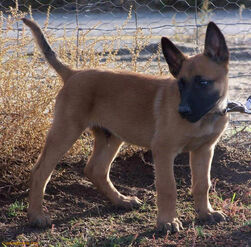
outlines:
{"label": "whole tan puppy with black face standing on dirt", "polygon": [[81,133],[89,127],[95,136],[85,175],[113,204],[131,207],[137,197],[122,195],[109,171],[123,142],[148,147],[155,162],[157,226],[179,231],[176,213],[175,156],[190,152],[192,193],[202,220],[225,219],[209,203],[210,167],[214,147],[228,122],[225,114],[229,52],[223,34],[210,22],[202,54],[185,56],[169,39],[161,45],[172,78],[98,69],[74,70],[56,57],[38,25],[30,27],[48,63],[64,86],[44,149],[32,170],[28,217],[44,227],[50,219],[42,210],[46,184],[53,169]]}

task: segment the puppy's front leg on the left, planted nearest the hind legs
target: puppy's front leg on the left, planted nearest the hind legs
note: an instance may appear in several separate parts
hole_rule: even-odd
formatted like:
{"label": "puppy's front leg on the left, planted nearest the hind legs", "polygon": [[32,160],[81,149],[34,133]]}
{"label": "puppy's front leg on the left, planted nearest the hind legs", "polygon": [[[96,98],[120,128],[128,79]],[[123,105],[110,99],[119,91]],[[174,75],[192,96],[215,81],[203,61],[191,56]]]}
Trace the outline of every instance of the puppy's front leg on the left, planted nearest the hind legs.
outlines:
{"label": "puppy's front leg on the left, planted nearest the hind legs", "polygon": [[175,151],[166,145],[155,144],[152,148],[155,163],[155,179],[157,190],[157,228],[170,232],[182,229],[176,213],[177,190],[173,172]]}

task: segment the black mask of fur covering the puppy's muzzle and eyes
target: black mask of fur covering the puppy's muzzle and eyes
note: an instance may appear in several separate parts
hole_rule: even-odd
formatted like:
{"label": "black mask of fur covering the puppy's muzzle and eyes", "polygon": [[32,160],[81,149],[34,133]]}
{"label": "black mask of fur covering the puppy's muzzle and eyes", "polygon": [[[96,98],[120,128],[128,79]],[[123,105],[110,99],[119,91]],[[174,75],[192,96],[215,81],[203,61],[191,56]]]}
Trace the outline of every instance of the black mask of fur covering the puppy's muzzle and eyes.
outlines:
{"label": "black mask of fur covering the puppy's muzzle and eyes", "polygon": [[195,123],[208,113],[219,101],[220,93],[214,87],[214,81],[195,76],[188,83],[184,78],[178,81],[181,102],[180,115]]}

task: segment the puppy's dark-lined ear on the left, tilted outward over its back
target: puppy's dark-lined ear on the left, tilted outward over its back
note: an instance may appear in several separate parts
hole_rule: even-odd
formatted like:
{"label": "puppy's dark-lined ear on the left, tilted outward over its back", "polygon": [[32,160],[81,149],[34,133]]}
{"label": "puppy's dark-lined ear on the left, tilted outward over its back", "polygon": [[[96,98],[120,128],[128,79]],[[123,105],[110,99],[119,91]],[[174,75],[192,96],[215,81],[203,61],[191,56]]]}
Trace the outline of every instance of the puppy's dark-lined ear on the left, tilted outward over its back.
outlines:
{"label": "puppy's dark-lined ear on the left, tilted outward over its back", "polygon": [[177,77],[183,61],[186,59],[184,54],[168,39],[161,38],[161,47],[169,70],[174,77]]}

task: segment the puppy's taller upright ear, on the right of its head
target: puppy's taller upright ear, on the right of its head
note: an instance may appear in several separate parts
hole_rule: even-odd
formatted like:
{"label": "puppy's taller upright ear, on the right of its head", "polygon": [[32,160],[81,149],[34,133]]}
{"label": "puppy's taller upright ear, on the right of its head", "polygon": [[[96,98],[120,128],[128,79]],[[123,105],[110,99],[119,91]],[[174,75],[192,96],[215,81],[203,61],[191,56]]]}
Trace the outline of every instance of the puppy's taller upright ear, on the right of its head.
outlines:
{"label": "puppy's taller upright ear, on the right of its head", "polygon": [[226,63],[229,60],[225,38],[213,22],[209,22],[207,26],[204,54],[217,63]]}

